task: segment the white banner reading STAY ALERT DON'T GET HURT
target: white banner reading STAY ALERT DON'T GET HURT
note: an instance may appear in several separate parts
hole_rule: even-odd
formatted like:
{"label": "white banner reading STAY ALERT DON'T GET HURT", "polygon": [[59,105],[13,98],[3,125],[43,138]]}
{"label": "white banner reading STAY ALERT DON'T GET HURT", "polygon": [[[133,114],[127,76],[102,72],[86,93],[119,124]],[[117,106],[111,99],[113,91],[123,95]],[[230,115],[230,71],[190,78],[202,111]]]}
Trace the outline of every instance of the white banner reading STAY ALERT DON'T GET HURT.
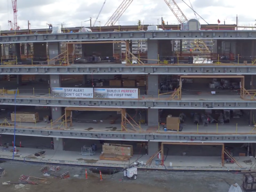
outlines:
{"label": "white banner reading STAY ALERT DON'T GET HURT", "polygon": [[53,97],[93,98],[93,88],[52,88]]}

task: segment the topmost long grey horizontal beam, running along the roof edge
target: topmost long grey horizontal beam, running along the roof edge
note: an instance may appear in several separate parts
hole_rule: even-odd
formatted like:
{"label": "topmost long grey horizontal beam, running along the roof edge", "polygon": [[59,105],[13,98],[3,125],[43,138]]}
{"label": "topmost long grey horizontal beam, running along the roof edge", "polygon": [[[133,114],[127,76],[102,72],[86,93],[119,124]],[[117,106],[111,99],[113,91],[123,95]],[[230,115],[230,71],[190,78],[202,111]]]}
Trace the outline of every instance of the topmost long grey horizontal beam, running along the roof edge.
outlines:
{"label": "topmost long grey horizontal beam, running along the roof edge", "polygon": [[92,33],[26,34],[1,36],[1,44],[26,42],[116,41],[127,39],[256,39],[256,31],[111,31]]}

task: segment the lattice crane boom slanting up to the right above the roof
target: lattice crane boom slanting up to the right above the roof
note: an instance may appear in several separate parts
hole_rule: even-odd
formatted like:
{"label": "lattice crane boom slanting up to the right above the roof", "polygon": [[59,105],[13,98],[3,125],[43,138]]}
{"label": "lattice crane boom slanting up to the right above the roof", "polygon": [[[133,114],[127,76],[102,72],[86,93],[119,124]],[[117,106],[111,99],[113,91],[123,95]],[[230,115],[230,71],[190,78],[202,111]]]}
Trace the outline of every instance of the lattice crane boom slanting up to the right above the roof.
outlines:
{"label": "lattice crane boom slanting up to the right above the roof", "polygon": [[133,0],[124,0],[104,26],[115,25],[118,19],[123,15],[125,10],[127,10],[129,5],[132,3],[132,1]]}

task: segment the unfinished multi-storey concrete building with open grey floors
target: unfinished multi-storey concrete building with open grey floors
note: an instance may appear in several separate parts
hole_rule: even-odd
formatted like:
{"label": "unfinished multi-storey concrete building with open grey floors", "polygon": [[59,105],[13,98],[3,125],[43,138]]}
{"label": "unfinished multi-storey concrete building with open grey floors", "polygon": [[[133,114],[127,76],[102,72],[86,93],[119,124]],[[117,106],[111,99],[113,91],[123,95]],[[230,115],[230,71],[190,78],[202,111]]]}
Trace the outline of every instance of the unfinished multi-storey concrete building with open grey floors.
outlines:
{"label": "unfinished multi-storey concrete building with open grey floors", "polygon": [[[212,53],[175,52],[174,41],[191,39],[213,42]],[[134,53],[134,41],[146,44],[147,52]],[[251,169],[243,161],[256,162],[247,157],[256,147],[255,31],[24,34],[0,36],[0,44],[1,138],[10,143],[15,134],[28,161],[123,167],[100,160],[100,153],[78,160],[76,150],[100,148],[104,140],[133,145],[144,162],[161,149],[162,165],[148,168],[240,170]],[[39,119],[18,112],[38,112]],[[220,164],[218,156],[229,161],[224,144],[235,158],[244,155],[239,165]],[[48,145],[54,150],[45,158],[31,157]]]}

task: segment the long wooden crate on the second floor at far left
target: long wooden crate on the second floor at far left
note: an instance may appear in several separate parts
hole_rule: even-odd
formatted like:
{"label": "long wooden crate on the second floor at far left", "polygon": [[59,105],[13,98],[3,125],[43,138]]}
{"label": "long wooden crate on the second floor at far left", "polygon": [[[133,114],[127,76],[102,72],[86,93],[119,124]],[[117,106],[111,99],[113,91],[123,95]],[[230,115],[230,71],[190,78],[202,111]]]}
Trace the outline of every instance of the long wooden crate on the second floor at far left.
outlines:
{"label": "long wooden crate on the second floor at far left", "polygon": [[[12,122],[15,121],[15,113],[11,113]],[[35,123],[39,121],[39,114],[33,112],[16,112],[16,122]]]}

